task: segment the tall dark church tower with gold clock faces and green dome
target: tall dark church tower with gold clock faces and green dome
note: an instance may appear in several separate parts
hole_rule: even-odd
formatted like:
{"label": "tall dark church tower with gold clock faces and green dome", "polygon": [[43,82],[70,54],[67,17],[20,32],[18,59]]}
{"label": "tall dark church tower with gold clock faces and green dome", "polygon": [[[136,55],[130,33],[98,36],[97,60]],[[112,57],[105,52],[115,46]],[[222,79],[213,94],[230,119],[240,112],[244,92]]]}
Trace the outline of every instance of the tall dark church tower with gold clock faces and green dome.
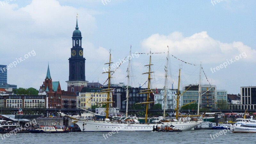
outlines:
{"label": "tall dark church tower with gold clock faces and green dome", "polygon": [[76,29],[72,36],[73,45],[71,48],[69,60],[69,77],[66,81],[68,92],[78,93],[83,87],[87,86],[88,81],[85,80],[85,58],[82,48],[82,34],[78,28],[76,17]]}

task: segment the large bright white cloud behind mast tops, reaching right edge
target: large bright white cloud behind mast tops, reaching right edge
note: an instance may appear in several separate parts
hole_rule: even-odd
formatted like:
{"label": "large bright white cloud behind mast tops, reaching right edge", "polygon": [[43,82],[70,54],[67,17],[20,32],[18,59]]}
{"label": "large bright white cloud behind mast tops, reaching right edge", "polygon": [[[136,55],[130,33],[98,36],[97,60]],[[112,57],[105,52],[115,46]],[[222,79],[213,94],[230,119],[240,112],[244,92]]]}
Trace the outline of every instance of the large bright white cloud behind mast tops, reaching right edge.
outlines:
{"label": "large bright white cloud behind mast tops, reaching right edge", "polygon": [[[183,60],[190,63],[220,63],[243,52],[247,54],[243,60],[256,61],[256,51],[251,47],[242,42],[222,43],[211,38],[206,31],[188,37],[184,37],[180,32],[173,32],[167,36],[153,34],[141,44],[143,49],[150,48],[152,52],[166,52],[168,45],[172,55],[184,58]],[[193,59],[195,57],[196,59]]]}

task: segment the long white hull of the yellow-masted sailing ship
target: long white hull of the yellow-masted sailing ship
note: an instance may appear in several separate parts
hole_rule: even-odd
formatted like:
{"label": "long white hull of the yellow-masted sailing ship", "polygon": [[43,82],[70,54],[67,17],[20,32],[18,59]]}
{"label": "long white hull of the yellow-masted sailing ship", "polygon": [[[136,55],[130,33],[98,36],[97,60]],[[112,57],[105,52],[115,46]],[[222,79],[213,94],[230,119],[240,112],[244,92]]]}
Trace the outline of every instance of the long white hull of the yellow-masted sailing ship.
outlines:
{"label": "long white hull of the yellow-masted sailing ship", "polygon": [[[122,124],[115,122],[93,121],[93,120],[72,120],[81,129],[82,132],[111,132],[111,131],[152,131],[153,126],[161,124]],[[165,122],[172,124],[175,129],[194,130],[194,127],[201,124],[202,121],[191,122]]]}

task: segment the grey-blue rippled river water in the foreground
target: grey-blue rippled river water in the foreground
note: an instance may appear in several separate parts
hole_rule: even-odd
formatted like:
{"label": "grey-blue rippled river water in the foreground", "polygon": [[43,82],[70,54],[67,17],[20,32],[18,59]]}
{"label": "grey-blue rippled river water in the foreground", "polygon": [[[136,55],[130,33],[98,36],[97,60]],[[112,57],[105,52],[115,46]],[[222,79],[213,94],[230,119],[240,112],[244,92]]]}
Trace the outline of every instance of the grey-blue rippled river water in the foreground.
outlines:
{"label": "grey-blue rippled river water in the foreground", "polygon": [[[112,136],[108,132],[69,132],[69,133],[17,133],[0,144],[80,144],[80,143],[256,143],[256,133],[225,133],[222,130],[191,130],[183,132],[116,132]],[[219,137],[210,134],[221,133]],[[225,132],[225,131],[224,131]],[[105,135],[105,138],[103,137]]]}

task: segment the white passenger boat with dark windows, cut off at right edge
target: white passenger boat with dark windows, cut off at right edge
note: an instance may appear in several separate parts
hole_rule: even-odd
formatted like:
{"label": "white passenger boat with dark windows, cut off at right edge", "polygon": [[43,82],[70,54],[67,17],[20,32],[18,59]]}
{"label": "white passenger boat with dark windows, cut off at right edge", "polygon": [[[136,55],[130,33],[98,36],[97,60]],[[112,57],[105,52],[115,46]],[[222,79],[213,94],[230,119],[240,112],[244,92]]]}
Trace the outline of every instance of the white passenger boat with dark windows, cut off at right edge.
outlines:
{"label": "white passenger boat with dark windows, cut off at right edge", "polygon": [[256,120],[238,118],[234,125],[229,126],[231,132],[256,132]]}

